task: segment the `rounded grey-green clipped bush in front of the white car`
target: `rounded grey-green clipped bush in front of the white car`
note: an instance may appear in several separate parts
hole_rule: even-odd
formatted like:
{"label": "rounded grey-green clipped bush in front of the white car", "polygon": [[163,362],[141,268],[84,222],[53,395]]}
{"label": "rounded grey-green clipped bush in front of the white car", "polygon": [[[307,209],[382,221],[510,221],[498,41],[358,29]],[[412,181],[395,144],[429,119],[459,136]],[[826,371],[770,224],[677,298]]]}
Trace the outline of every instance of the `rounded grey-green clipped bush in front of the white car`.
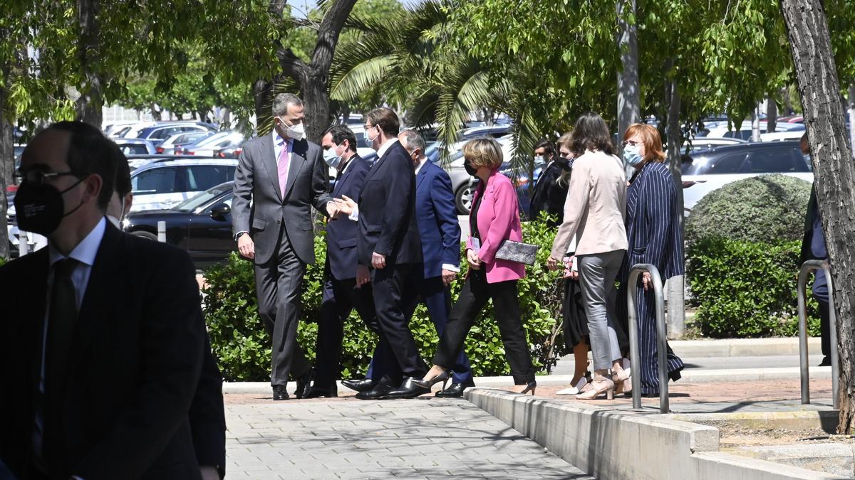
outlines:
{"label": "rounded grey-green clipped bush in front of the white car", "polygon": [[686,220],[686,241],[724,237],[746,242],[800,240],[811,184],[770,174],[726,184],[701,199]]}

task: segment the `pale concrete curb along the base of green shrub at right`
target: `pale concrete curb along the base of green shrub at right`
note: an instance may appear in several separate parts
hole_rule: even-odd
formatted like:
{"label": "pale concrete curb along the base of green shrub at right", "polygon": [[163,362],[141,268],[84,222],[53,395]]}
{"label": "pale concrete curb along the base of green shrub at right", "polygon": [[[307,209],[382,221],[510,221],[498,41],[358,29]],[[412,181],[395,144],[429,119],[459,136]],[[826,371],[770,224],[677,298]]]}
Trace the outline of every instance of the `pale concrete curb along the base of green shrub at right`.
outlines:
{"label": "pale concrete curb along the base of green shrub at right", "polygon": [[[722,340],[669,340],[675,354],[685,358],[765,357],[798,355],[799,338],[726,338]],[[819,353],[819,337],[807,340],[808,352]]]}

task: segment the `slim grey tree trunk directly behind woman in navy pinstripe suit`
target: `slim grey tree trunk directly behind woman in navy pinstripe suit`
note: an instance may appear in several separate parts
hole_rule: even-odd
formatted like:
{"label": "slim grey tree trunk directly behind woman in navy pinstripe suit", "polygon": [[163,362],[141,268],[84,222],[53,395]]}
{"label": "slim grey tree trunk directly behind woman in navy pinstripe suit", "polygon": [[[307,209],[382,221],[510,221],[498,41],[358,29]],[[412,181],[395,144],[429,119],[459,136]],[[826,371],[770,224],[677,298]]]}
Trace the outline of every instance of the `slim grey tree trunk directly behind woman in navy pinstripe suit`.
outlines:
{"label": "slim grey tree trunk directly behind woman in navy pinstripe suit", "polygon": [[[683,179],[681,166],[681,149],[683,145],[680,128],[681,97],[677,87],[677,79],[669,81],[668,107],[668,169],[674,176],[677,190],[677,221],[683,222]],[[679,339],[686,333],[686,288],[682,275],[668,279],[668,334],[669,338]]]}

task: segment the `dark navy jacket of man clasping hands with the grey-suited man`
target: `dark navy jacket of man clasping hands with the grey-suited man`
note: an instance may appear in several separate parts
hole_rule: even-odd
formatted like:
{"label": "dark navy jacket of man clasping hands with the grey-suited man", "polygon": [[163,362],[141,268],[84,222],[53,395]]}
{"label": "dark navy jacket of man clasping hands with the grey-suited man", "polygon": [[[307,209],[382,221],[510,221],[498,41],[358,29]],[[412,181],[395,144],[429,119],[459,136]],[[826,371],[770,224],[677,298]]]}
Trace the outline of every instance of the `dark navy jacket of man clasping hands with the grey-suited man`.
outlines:
{"label": "dark navy jacket of man clasping hands with the grey-suited man", "polygon": [[399,142],[374,161],[359,196],[359,265],[371,266],[374,252],[386,255],[386,264],[422,261],[413,172],[410,155]]}

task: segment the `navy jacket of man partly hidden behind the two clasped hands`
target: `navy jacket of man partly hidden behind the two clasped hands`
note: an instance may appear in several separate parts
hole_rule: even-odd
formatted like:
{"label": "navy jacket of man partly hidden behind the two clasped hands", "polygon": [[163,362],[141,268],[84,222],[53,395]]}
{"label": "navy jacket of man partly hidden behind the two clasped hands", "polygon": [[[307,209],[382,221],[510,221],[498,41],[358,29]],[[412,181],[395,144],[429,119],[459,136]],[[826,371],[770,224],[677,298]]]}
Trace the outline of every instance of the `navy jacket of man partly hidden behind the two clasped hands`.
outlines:
{"label": "navy jacket of man partly hidden behind the two clasped hands", "polygon": [[[359,192],[363,190],[365,177],[369,173],[369,164],[359,155],[353,155],[333,186],[333,196],[348,196],[359,202]],[[342,216],[327,224],[327,268],[337,280],[356,278],[357,276],[357,222]]]}

